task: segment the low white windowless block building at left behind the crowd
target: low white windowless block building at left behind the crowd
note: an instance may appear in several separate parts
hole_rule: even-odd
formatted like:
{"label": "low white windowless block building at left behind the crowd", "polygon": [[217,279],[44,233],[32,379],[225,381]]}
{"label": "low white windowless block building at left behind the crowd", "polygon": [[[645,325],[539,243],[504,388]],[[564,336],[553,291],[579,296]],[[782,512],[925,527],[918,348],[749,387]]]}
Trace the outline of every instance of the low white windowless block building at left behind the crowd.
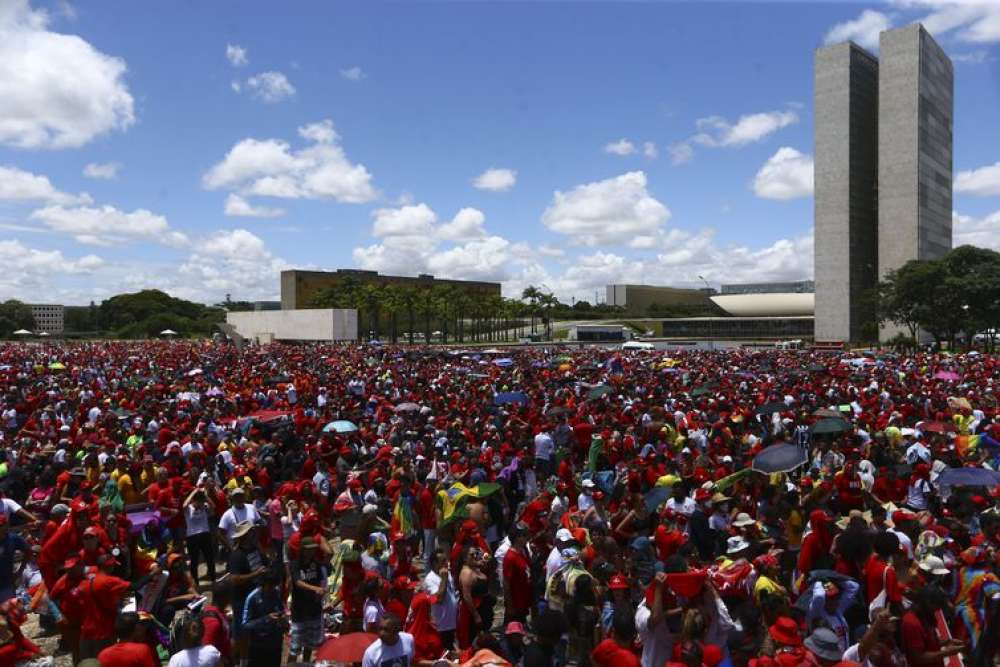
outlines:
{"label": "low white windowless block building at left behind the crowd", "polygon": [[241,337],[272,341],[351,341],[358,338],[358,311],[335,308],[257,310],[226,313]]}

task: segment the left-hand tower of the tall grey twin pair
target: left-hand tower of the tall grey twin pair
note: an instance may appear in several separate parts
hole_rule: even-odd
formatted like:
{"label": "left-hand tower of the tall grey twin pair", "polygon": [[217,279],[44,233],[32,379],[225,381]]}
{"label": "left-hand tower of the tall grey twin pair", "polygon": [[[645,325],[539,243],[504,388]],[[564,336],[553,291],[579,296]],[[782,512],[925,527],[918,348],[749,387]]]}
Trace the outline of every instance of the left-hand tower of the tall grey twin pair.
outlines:
{"label": "left-hand tower of the tall grey twin pair", "polygon": [[853,43],[816,52],[815,275],[818,341],[861,340],[878,282],[878,61]]}

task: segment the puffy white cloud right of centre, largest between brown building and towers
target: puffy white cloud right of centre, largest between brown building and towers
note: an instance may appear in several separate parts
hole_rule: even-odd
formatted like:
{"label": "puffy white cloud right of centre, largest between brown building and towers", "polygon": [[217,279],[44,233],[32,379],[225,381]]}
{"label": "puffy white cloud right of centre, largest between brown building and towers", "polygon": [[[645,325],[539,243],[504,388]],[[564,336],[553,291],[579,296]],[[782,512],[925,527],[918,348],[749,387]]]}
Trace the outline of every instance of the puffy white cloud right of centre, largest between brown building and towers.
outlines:
{"label": "puffy white cloud right of centre, largest between brown building and towers", "polygon": [[633,171],[615,178],[555,192],[542,214],[549,229],[580,245],[627,243],[656,233],[670,211],[646,190],[646,174]]}

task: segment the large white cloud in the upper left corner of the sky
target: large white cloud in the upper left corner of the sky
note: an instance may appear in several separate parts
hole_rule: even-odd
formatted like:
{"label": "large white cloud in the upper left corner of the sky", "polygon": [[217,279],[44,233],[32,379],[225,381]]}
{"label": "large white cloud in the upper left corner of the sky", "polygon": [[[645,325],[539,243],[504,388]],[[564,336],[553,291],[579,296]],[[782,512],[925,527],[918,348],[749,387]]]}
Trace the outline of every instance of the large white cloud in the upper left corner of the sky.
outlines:
{"label": "large white cloud in the upper left corner of the sky", "polygon": [[0,3],[0,144],[76,148],[135,122],[125,61],[47,26],[27,0]]}

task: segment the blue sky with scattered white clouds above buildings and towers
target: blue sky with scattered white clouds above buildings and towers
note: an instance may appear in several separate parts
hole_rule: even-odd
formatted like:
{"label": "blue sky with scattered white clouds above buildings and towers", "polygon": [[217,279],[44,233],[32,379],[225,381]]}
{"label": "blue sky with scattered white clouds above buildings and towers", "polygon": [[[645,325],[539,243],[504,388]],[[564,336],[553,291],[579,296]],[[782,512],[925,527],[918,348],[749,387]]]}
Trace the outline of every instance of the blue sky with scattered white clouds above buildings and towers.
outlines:
{"label": "blue sky with scattered white clouds above buildings and towers", "polygon": [[0,0],[0,300],[811,278],[813,52],[918,20],[955,64],[954,243],[1000,249],[994,0]]}

